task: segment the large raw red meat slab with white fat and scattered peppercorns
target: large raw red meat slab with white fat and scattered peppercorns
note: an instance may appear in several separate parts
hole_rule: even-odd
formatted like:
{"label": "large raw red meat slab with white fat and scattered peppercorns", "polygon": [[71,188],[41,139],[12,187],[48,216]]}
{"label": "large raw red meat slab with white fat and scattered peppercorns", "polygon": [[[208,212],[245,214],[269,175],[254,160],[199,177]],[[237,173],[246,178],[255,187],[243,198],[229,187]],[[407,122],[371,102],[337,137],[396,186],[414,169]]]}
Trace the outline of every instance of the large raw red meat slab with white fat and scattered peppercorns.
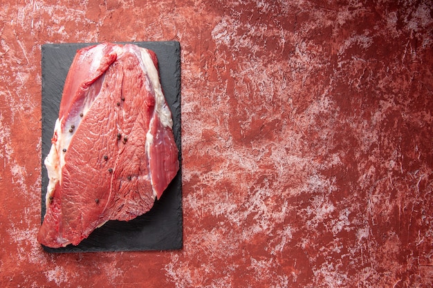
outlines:
{"label": "large raw red meat slab with white fat and scattered peppercorns", "polygon": [[77,51],[66,77],[37,240],[77,245],[108,220],[146,213],[179,169],[156,54],[133,44]]}

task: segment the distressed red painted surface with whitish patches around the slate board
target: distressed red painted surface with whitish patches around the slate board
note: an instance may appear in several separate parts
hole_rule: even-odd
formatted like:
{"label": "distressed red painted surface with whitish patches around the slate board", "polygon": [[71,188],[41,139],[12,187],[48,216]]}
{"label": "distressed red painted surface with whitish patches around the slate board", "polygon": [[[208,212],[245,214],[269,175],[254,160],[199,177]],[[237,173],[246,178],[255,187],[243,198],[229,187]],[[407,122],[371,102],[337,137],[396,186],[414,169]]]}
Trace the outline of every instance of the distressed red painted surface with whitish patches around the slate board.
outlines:
{"label": "distressed red painted surface with whitish patches around the slate board", "polygon": [[[432,287],[433,6],[1,1],[1,287]],[[41,45],[181,43],[184,247],[36,241]]]}

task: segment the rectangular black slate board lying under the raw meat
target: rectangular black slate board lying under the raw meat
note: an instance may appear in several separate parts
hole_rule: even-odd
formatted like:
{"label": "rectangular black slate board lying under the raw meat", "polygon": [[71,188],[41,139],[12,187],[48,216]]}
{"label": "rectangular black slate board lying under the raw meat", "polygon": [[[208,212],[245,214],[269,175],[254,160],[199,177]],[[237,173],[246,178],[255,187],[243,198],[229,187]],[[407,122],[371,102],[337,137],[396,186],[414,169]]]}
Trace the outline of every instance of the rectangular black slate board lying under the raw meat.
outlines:
{"label": "rectangular black slate board lying under the raw meat", "polygon": [[[133,42],[158,56],[160,81],[173,115],[173,132],[181,161],[181,46],[177,41]],[[94,44],[42,45],[42,220],[48,175],[44,159],[50,151],[64,81],[78,49]],[[182,166],[181,166],[182,167]],[[77,246],[45,251],[171,250],[183,247],[181,169],[151,211],[131,221],[109,221]]]}

